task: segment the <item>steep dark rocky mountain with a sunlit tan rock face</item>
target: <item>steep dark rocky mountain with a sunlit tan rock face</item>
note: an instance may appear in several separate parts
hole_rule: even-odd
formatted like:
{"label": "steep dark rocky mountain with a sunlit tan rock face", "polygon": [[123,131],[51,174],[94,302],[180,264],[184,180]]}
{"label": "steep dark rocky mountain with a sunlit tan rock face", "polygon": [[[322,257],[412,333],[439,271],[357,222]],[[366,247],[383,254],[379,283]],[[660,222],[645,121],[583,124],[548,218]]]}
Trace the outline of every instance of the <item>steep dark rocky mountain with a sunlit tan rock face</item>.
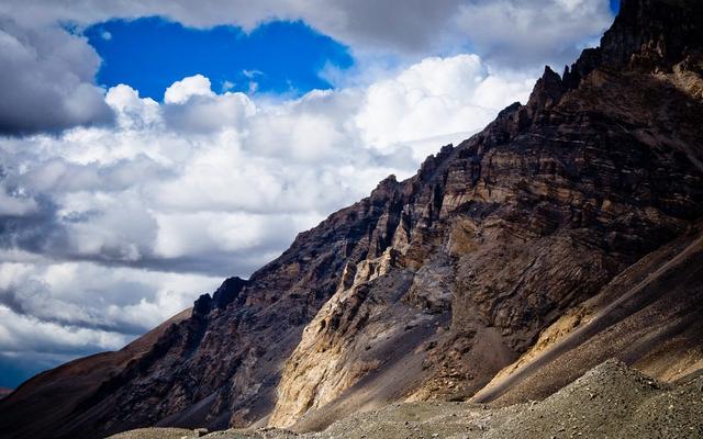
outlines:
{"label": "steep dark rocky mountain with a sunlit tan rock face", "polygon": [[[703,367],[703,4],[623,0],[525,105],[119,352],[0,402],[8,438],[319,430],[398,401],[542,399],[609,358]],[[7,434],[5,434],[7,432]]]}

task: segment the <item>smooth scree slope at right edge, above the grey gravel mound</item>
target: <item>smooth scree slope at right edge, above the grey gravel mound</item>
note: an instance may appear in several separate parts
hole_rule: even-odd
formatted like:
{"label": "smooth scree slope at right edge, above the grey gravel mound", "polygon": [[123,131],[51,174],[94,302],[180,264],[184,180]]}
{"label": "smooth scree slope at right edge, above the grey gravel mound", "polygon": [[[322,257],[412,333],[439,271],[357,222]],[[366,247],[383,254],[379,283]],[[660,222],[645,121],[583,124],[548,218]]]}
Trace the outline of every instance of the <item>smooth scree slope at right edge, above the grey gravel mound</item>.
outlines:
{"label": "smooth scree slope at right edge, above the grey gravel mound", "polygon": [[703,369],[702,279],[703,224],[696,224],[566,313],[473,401],[543,398],[612,357],[666,381]]}

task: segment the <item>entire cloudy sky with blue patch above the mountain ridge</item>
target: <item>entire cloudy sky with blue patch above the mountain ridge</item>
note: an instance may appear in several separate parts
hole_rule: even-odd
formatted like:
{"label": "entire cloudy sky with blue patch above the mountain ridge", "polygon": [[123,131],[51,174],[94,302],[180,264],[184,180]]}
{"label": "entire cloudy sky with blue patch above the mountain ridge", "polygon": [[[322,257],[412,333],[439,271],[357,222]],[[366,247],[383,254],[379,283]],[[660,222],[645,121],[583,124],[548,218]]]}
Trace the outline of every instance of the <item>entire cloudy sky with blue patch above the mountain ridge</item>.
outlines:
{"label": "entire cloudy sky with blue patch above the mountain ridge", "polygon": [[412,176],[616,3],[0,2],[0,386],[120,349]]}

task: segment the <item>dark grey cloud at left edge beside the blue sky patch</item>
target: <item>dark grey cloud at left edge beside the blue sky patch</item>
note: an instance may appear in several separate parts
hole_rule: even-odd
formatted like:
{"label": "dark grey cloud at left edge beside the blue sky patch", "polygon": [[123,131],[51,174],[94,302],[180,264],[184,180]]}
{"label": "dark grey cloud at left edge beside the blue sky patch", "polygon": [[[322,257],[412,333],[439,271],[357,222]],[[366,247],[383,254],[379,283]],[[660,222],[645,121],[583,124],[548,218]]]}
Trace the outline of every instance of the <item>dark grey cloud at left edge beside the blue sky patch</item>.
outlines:
{"label": "dark grey cloud at left edge beside the blue sky patch", "polygon": [[27,29],[0,14],[0,134],[111,120],[93,78],[96,52],[57,25]]}

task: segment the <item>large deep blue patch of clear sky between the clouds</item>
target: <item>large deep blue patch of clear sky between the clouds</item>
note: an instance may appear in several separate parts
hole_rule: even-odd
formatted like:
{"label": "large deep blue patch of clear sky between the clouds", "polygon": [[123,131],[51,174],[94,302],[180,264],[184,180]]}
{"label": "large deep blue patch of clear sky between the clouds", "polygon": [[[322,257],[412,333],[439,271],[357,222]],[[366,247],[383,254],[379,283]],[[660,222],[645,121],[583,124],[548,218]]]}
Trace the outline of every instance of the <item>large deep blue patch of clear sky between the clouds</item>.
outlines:
{"label": "large deep blue patch of clear sky between the clouds", "polygon": [[349,68],[349,49],[301,21],[277,21],[250,33],[235,26],[185,27],[152,16],[112,20],[85,31],[102,58],[97,81],[126,83],[142,97],[161,100],[164,90],[201,74],[213,90],[300,95],[332,85],[320,72],[327,66]]}

